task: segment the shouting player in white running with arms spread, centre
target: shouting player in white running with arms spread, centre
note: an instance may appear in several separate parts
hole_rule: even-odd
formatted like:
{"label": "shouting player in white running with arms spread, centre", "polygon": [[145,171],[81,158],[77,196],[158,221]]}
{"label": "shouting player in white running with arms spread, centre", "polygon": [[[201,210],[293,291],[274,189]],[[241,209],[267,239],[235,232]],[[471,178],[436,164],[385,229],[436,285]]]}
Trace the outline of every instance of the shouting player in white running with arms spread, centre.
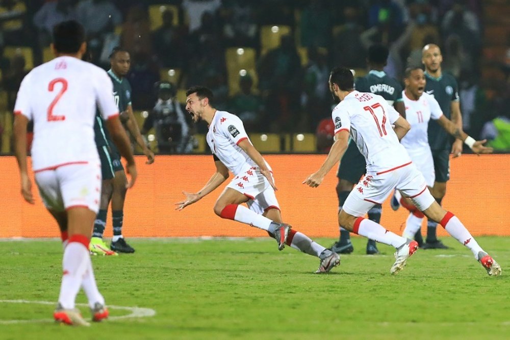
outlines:
{"label": "shouting player in white running with arms spread, centre", "polygon": [[186,199],[175,203],[178,205],[176,210],[183,210],[218,188],[228,178],[230,170],[234,178],[216,200],[216,215],[266,230],[276,239],[278,250],[287,244],[319,257],[320,265],[316,273],[327,273],[337,266],[340,263],[337,253],[282,222],[271,168],[251,144],[241,119],[226,111],[216,110],[213,93],[206,87],[192,87],[186,96],[186,110],[193,121],[204,121],[209,126],[206,138],[213,152],[216,172],[197,193],[183,191]]}

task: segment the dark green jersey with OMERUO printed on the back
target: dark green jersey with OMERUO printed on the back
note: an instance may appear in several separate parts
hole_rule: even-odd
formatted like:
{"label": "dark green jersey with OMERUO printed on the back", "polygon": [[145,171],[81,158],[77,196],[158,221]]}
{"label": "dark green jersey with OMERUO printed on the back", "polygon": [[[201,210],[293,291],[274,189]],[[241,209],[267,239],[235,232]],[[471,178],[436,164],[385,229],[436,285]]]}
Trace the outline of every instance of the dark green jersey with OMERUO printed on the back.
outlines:
{"label": "dark green jersey with OMERUO printed on the back", "polygon": [[356,79],[354,88],[360,92],[371,92],[385,98],[390,105],[402,101],[402,86],[384,71],[371,70],[364,77]]}

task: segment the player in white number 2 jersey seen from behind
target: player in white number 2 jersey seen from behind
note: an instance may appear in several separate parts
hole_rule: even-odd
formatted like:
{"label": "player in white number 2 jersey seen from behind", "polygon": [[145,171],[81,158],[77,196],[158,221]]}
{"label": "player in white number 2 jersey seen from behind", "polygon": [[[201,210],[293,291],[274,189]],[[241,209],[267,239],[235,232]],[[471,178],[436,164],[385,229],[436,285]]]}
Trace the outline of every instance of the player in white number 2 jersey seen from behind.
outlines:
{"label": "player in white number 2 jersey seen from behind", "polygon": [[99,207],[100,161],[94,143],[96,105],[113,140],[127,160],[131,187],[136,166],[129,140],[119,120],[106,72],[81,61],[86,50],[83,27],[65,21],[54,28],[52,49],[57,58],[24,77],[14,107],[15,153],[21,193],[34,204],[27,169],[27,124],[34,122],[32,167],[40,196],[61,230],[64,255],[60,295],[54,318],[69,325],[85,325],[75,298],[83,287],[93,321],[108,317],[89,255],[92,225]]}

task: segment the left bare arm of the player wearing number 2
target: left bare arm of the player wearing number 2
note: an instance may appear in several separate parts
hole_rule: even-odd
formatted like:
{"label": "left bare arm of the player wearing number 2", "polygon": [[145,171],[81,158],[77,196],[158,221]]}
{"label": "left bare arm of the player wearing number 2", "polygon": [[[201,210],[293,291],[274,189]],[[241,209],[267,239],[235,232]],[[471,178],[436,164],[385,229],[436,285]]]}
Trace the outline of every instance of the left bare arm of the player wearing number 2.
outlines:
{"label": "left bare arm of the player wearing number 2", "polygon": [[17,114],[14,116],[14,152],[18,161],[19,174],[21,176],[21,195],[25,201],[34,204],[32,195],[32,182],[30,181],[27,168],[27,117]]}

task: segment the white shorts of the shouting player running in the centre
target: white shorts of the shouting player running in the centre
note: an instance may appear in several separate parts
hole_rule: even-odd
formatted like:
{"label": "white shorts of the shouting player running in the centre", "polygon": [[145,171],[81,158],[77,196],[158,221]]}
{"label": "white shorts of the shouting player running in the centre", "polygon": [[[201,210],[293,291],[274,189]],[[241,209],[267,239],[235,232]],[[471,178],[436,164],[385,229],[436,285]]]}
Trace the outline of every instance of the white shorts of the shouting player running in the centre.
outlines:
{"label": "white shorts of the shouting player running in the centre", "polygon": [[274,189],[260,169],[247,167],[244,170],[246,171],[240,172],[226,187],[248,197],[249,200],[246,204],[251,211],[257,214],[264,214],[270,208],[280,210]]}

